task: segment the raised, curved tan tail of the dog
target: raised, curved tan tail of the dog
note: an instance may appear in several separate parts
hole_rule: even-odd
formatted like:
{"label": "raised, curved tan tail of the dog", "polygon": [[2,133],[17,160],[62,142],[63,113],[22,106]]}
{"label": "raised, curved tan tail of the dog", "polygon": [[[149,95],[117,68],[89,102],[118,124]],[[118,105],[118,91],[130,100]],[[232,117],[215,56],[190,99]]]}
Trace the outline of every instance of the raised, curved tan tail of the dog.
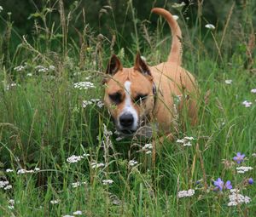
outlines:
{"label": "raised, curved tan tail of the dog", "polygon": [[177,25],[177,21],[172,17],[172,14],[166,9],[154,8],[151,12],[155,14],[160,14],[163,16],[171,30],[172,30],[172,49],[168,56],[168,61],[176,62],[178,66],[181,65],[182,62],[182,34],[179,26]]}

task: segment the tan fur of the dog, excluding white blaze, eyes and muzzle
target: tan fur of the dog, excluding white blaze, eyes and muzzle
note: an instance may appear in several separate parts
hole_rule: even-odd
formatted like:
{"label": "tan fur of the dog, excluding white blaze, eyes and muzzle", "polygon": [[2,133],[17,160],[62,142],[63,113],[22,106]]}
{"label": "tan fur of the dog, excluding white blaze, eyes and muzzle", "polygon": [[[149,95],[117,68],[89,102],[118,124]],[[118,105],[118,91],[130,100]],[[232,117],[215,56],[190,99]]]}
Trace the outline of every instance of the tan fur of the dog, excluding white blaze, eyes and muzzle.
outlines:
{"label": "tan fur of the dog, excluding white blaze, eyes and muzzle", "polygon": [[[108,64],[107,73],[112,73],[112,78],[106,81],[105,103],[114,119],[119,117],[119,113],[124,108],[124,102],[113,106],[113,102],[108,95],[116,92],[122,93],[125,97],[125,81],[131,82],[131,97],[136,97],[137,93],[148,94],[147,100],[143,106],[133,104],[139,117],[144,114],[150,114],[152,122],[158,123],[160,130],[170,133],[174,123],[174,117],[177,116],[177,110],[174,105],[174,97],[181,96],[181,103],[177,109],[181,110],[184,106],[189,111],[191,123],[197,121],[196,96],[197,88],[195,78],[184,70],[181,64],[182,44],[180,42],[181,31],[177,21],[172,18],[165,9],[152,9],[153,13],[160,14],[167,20],[172,30],[172,49],[168,60],[157,66],[147,66],[140,56],[134,67],[123,68],[116,56],[113,56]],[[144,73],[146,71],[146,73]],[[147,71],[150,71],[150,73]],[[153,85],[157,89],[157,97],[154,105]]]}

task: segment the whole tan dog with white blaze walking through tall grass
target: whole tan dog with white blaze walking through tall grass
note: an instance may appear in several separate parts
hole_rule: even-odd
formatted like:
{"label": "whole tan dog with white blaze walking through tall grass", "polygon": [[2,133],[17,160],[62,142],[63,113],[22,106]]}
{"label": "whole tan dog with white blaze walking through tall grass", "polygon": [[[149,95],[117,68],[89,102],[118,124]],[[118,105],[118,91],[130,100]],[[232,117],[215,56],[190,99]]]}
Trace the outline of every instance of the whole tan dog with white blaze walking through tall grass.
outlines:
{"label": "whole tan dog with white blaze walking through tall grass", "polygon": [[[148,66],[137,54],[131,68],[122,66],[113,54],[108,62],[105,79],[104,102],[113,117],[117,131],[125,135],[136,134],[145,123],[156,123],[158,132],[172,135],[177,112],[187,108],[192,124],[197,122],[195,77],[181,67],[182,33],[177,21],[166,9],[152,12],[163,16],[172,31],[172,48],[166,62]],[[175,97],[180,102],[175,104]]]}

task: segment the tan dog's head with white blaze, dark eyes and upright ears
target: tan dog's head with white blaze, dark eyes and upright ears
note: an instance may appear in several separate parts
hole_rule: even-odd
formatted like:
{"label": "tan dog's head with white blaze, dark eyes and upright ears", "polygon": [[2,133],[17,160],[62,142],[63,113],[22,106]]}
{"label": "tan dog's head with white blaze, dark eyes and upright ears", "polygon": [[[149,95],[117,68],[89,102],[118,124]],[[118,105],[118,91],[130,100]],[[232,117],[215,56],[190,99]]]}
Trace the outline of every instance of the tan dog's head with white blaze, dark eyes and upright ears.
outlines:
{"label": "tan dog's head with white blaze, dark eyes and upright ears", "polygon": [[106,73],[105,105],[117,130],[134,134],[154,108],[154,83],[149,68],[139,54],[133,68],[123,68],[113,55]]}

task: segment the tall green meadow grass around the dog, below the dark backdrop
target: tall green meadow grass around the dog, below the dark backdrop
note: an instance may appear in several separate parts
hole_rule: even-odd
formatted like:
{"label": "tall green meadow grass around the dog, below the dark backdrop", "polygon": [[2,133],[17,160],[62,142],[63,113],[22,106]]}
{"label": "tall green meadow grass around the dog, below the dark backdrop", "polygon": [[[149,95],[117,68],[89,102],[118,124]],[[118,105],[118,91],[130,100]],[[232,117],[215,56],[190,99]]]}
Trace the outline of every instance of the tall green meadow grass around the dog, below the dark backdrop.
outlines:
{"label": "tall green meadow grass around the dog, below the dark backdrop", "polygon": [[[96,37],[84,22],[82,41],[76,43],[68,37],[72,20],[67,19],[68,14],[65,17],[62,1],[59,7],[61,23],[56,29],[60,32],[46,32],[52,26],[46,28],[49,24],[45,21],[33,41],[24,37],[14,54],[2,46],[0,177],[12,188],[0,189],[0,215],[64,216],[80,210],[83,216],[253,216],[256,188],[248,185],[247,179],[256,179],[256,94],[251,93],[256,88],[255,54],[250,59],[246,52],[251,35],[247,27],[240,26],[241,38],[230,26],[232,7],[224,31],[206,30],[201,24],[203,16],[197,17],[194,28],[188,28],[180,14],[183,66],[195,75],[201,89],[200,122],[196,127],[186,123],[186,130],[180,124],[176,140],[193,136],[192,146],[165,140],[158,147],[155,167],[151,155],[142,151],[150,141],[117,141],[117,135],[109,132],[114,128],[108,112],[96,102],[82,106],[84,100],[102,99],[103,66],[115,41]],[[127,11],[132,9],[132,3],[127,7]],[[247,11],[249,8],[248,3]],[[48,14],[41,15],[45,20]],[[10,31],[10,20],[6,22]],[[163,20],[156,31],[148,26],[139,28],[137,23],[134,26],[136,37],[131,47],[114,45],[120,48],[117,53],[124,65],[132,66],[129,56],[136,54],[136,48],[143,50],[149,65],[166,60],[170,37],[160,31],[167,28]],[[119,34],[116,37],[117,42],[122,40]],[[2,45],[10,38],[5,36]],[[230,47],[234,38],[240,40]],[[19,70],[16,66],[24,67]],[[228,79],[231,84],[225,83]],[[73,83],[84,81],[95,87],[74,89]],[[205,103],[207,90],[211,94]],[[252,106],[242,105],[244,100]],[[241,165],[253,170],[236,172],[240,166],[232,160],[236,152],[246,155]],[[77,163],[68,163],[72,155],[84,156]],[[137,164],[131,165],[131,160]],[[94,163],[103,164],[96,167]],[[14,171],[8,173],[8,168]],[[20,168],[26,173],[18,174]],[[230,191],[213,191],[212,181],[218,177],[230,180],[233,188],[251,198],[250,203],[228,206]],[[113,183],[104,185],[103,180]],[[77,182],[79,186],[73,187]],[[177,197],[178,191],[189,189],[194,189],[195,195]]]}

